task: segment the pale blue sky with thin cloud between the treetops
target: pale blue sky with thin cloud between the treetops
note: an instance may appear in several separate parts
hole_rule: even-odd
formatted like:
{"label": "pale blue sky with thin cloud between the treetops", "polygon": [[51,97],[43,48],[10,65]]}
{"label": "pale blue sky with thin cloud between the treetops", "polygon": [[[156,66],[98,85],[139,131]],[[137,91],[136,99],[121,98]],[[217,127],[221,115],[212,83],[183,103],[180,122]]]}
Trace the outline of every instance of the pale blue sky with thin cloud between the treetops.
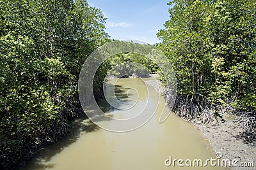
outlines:
{"label": "pale blue sky with thin cloud between the treetops", "polygon": [[157,30],[168,20],[170,0],[88,0],[104,13],[106,32],[114,39],[136,39],[158,43]]}

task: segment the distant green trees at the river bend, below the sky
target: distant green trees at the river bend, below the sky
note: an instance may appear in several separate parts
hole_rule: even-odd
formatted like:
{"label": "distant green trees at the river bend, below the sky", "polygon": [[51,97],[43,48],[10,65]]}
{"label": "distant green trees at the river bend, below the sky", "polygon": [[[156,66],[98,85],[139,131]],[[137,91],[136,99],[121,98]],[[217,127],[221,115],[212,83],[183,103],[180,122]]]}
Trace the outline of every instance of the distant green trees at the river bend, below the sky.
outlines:
{"label": "distant green trees at the river bend, below the sky", "polygon": [[130,73],[133,76],[148,77],[150,73],[161,73],[159,63],[163,59],[158,53],[153,57],[150,53],[154,53],[154,50],[158,50],[156,46],[119,40],[109,43],[106,51],[105,48],[99,48],[97,52],[101,54],[97,55],[97,60],[104,62],[100,64],[94,76],[94,92],[102,90],[102,82],[108,78],[106,76],[120,78],[122,75],[128,77],[127,74]]}

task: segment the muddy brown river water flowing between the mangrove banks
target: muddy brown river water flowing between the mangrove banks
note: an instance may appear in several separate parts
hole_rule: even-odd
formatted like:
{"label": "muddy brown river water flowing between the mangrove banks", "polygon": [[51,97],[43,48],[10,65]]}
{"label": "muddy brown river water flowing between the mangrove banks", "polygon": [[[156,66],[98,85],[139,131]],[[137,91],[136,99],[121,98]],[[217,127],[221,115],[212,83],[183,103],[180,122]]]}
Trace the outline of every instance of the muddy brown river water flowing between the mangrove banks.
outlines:
{"label": "muddy brown river water flowing between the mangrove banks", "polygon": [[[144,78],[144,81],[152,81]],[[110,82],[111,83],[111,82]],[[118,99],[138,100],[135,110],[140,110],[145,102],[158,103],[156,90],[148,86],[140,78],[120,79],[116,82]],[[130,88],[136,90],[131,90]],[[130,89],[130,90],[129,90]],[[147,91],[148,90],[148,91]],[[128,96],[127,96],[128,92]],[[152,94],[147,99],[147,92]],[[118,96],[119,95],[119,96]],[[139,97],[132,97],[139,96]],[[114,118],[129,118],[136,113],[115,110],[106,102],[101,101],[102,110]],[[154,106],[154,104],[149,104]],[[147,109],[147,108],[146,108]],[[152,108],[148,108],[152,110]],[[170,113],[165,106],[163,96],[154,116],[139,129],[130,132],[109,132],[97,127],[88,120],[78,119],[74,122],[74,132],[65,139],[61,139],[54,145],[47,146],[22,169],[223,169],[218,166],[196,167],[193,160],[202,159],[203,164],[207,159],[216,159],[215,154],[207,140],[200,134],[195,126],[188,124],[181,118],[171,113],[162,124],[159,117],[162,113]],[[111,126],[111,120],[102,120]],[[184,162],[180,167],[177,162],[175,166],[166,166],[166,159],[182,159]],[[185,160],[190,159],[185,165]],[[166,162],[170,164],[169,161]],[[195,163],[196,164],[196,163]]]}

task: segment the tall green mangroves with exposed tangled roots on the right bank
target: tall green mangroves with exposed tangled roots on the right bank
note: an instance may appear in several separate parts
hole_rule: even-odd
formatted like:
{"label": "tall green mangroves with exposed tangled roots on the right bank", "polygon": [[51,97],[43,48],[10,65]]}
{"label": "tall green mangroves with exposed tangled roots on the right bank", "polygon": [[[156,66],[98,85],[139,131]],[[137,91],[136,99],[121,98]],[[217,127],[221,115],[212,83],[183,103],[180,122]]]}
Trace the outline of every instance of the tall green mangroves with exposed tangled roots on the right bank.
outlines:
{"label": "tall green mangroves with exposed tangled roots on the right bank", "polygon": [[157,45],[177,76],[173,110],[207,123],[237,113],[256,135],[256,1],[173,0]]}

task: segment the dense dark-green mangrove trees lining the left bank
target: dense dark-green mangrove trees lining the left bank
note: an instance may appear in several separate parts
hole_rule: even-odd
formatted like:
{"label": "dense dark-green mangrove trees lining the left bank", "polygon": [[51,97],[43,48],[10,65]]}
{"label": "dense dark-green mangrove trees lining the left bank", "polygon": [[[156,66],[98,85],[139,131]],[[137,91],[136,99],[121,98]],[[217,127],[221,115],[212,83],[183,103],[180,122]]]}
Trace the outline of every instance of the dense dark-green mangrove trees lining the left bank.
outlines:
{"label": "dense dark-green mangrove trees lining the left bank", "polygon": [[81,66],[106,43],[106,18],[84,0],[1,1],[0,169],[69,131]]}

